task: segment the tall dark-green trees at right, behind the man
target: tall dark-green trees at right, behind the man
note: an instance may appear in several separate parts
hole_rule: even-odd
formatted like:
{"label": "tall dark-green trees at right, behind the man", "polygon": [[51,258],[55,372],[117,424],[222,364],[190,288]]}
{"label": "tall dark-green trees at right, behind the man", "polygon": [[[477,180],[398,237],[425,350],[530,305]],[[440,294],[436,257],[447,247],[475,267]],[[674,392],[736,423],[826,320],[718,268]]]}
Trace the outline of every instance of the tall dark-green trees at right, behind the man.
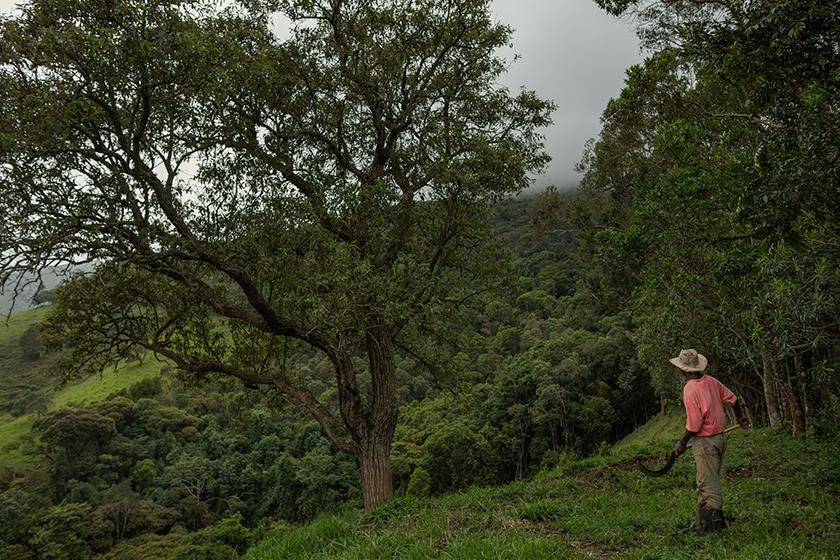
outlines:
{"label": "tall dark-green trees at right, behind the man", "polygon": [[653,50],[604,112],[579,215],[643,361],[666,390],[665,358],[702,346],[770,425],[837,422],[840,5],[598,3]]}

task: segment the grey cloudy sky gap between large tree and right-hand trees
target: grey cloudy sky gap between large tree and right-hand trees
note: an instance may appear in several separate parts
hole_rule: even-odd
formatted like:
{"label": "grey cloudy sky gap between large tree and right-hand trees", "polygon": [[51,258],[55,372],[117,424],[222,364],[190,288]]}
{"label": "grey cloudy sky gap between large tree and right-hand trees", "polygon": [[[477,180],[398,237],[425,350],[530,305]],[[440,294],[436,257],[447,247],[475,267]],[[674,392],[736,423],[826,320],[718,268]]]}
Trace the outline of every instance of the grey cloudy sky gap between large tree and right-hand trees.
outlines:
{"label": "grey cloudy sky gap between large tree and right-hand trees", "polygon": [[[18,3],[0,0],[0,11],[8,13]],[[593,0],[494,0],[493,5],[499,20],[513,27],[513,52],[521,55],[504,85],[536,90],[558,106],[554,125],[545,131],[552,162],[534,186],[573,186],[584,142],[597,136],[601,112],[621,90],[625,69],[642,58],[634,29]]]}

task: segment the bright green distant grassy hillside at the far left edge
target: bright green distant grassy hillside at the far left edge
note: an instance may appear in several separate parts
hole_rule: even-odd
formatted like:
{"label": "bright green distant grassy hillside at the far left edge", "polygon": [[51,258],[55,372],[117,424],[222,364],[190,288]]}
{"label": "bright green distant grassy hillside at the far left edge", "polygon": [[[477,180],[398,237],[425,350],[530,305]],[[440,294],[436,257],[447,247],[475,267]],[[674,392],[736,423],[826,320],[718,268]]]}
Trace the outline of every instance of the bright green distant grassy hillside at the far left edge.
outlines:
{"label": "bright green distant grassy hillside at the far left edge", "polygon": [[23,333],[37,327],[46,313],[44,307],[21,311],[0,322],[0,465],[19,466],[31,458],[27,455],[31,447],[27,442],[36,414],[12,411],[26,410],[36,399],[40,408],[48,410],[101,401],[141,379],[158,375],[164,365],[147,358],[142,364],[132,362],[119,369],[109,368],[98,376],[62,386],[50,375],[55,355],[42,353],[38,359],[26,359],[20,345]]}

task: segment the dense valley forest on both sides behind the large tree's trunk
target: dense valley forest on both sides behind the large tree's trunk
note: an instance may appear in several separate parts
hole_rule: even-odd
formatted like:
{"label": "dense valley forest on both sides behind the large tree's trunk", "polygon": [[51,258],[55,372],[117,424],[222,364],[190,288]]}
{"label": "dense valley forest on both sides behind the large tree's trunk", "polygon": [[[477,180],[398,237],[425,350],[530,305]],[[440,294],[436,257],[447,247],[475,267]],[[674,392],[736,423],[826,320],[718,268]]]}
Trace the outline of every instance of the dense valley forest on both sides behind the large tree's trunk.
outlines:
{"label": "dense valley forest on both sides behind the large tree's trunk", "polygon": [[[441,343],[451,371],[398,362],[397,493],[530,476],[658,410],[627,315],[593,312],[575,288],[574,238],[546,229],[542,206],[509,201],[492,216],[511,253],[511,289],[468,306],[457,338]],[[28,368],[54,364],[31,332],[10,349]],[[296,356],[298,375],[329,386],[323,359]],[[306,414],[270,392],[224,378],[196,386],[160,369],[91,404],[49,409],[38,404],[48,397],[10,396],[7,410],[38,419],[34,439],[11,444],[27,447],[25,466],[3,471],[7,556],[231,558],[269,522],[360,505],[354,458]]]}

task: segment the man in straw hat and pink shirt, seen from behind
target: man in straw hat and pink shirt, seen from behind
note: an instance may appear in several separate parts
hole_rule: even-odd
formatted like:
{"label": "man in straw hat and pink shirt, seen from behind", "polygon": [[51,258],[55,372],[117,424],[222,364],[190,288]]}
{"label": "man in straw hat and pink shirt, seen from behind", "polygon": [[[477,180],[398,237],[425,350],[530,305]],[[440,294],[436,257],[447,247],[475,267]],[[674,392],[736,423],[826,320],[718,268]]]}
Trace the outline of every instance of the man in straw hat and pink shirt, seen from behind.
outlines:
{"label": "man in straw hat and pink shirt, seen from behind", "polygon": [[674,452],[677,455],[685,453],[688,441],[694,438],[692,451],[697,466],[697,508],[700,516],[698,533],[708,535],[726,527],[720,485],[720,465],[726,452],[723,403],[733,407],[742,428],[747,427],[749,422],[735,394],[711,375],[703,374],[708,365],[704,355],[693,349],[682,350],[670,362],[683,371],[686,379],[683,387],[685,434],[674,446]]}

